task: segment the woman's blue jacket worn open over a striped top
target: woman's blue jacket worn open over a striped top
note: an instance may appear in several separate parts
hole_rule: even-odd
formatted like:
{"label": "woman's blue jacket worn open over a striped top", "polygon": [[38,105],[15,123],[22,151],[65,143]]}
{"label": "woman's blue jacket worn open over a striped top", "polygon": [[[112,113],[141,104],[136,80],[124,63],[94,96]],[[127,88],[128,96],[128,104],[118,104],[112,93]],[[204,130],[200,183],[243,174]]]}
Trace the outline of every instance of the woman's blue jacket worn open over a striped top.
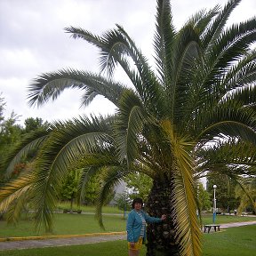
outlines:
{"label": "woman's blue jacket worn open over a striped top", "polygon": [[[146,212],[140,210],[146,222],[155,223],[161,222],[160,218],[150,217]],[[128,215],[128,220],[126,223],[126,231],[127,231],[127,241],[128,242],[138,242],[140,238],[140,230],[142,228],[142,220],[140,219],[140,215],[136,212],[136,210],[132,210]],[[146,228],[144,231],[144,239],[146,238]]]}

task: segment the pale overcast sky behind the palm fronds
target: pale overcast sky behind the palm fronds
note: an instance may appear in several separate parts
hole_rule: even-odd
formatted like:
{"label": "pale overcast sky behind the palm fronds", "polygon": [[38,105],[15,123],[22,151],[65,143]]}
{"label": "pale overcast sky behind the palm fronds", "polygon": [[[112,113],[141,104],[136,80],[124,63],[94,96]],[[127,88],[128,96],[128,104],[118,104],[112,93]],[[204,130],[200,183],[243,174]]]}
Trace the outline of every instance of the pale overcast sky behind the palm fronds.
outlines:
{"label": "pale overcast sky behind the palm fronds", "polygon": [[[172,0],[171,3],[174,25],[180,28],[193,13],[227,2]],[[251,18],[255,12],[255,0],[242,0],[229,23]],[[84,113],[113,113],[113,105],[102,98],[80,108],[81,92],[76,91],[66,91],[58,100],[41,108],[30,108],[28,84],[41,73],[60,68],[98,72],[97,49],[81,39],[70,38],[63,30],[69,26],[101,35],[120,24],[152,60],[155,14],[156,0],[0,0],[0,92],[6,101],[5,116],[10,116],[13,110],[23,124],[30,116],[52,121]],[[117,74],[117,78],[122,80],[123,76]]]}

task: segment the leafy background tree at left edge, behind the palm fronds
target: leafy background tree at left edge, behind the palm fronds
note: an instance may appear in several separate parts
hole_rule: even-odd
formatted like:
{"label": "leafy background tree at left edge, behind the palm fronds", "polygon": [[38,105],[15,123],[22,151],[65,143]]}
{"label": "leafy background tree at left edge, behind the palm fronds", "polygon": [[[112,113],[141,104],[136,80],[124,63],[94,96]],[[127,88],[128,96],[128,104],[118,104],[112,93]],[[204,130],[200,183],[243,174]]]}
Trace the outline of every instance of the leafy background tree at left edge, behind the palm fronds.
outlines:
{"label": "leafy background tree at left edge, behind the palm fronds", "polygon": [[[23,148],[23,146],[20,148],[20,145],[24,143],[27,144],[28,141],[36,141],[37,139],[35,140],[35,137],[40,137],[42,134],[45,135],[47,129],[50,127],[50,124],[38,117],[28,117],[24,123],[25,127],[21,124],[17,124],[20,116],[14,114],[13,111],[11,116],[4,116],[5,105],[4,98],[0,97],[0,180],[3,183],[6,182],[6,180],[19,177],[20,172],[25,171],[27,165],[29,166],[28,163],[36,157],[38,144],[35,144],[34,148],[28,147],[26,154],[21,153],[19,156],[20,149]],[[8,163],[13,156],[17,156],[17,153],[19,160],[17,160],[15,164],[11,164],[12,167],[9,168],[9,170],[5,170],[6,173],[4,177],[3,170],[6,167],[6,163]],[[28,167],[28,169],[29,168],[30,167]]]}

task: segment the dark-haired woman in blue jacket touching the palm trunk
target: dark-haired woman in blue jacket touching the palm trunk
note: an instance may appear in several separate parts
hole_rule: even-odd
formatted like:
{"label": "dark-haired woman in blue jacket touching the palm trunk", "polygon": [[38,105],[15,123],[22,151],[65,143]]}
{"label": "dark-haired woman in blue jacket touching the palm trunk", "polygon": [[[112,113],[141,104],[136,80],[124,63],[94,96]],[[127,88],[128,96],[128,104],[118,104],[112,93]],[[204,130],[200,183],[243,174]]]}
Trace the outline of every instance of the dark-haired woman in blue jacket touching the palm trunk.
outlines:
{"label": "dark-haired woman in blue jacket touching the palm trunk", "polygon": [[128,215],[126,224],[129,256],[138,256],[144,239],[146,238],[146,222],[161,222],[166,215],[160,218],[150,217],[141,210],[143,205],[141,198],[132,201],[132,211]]}

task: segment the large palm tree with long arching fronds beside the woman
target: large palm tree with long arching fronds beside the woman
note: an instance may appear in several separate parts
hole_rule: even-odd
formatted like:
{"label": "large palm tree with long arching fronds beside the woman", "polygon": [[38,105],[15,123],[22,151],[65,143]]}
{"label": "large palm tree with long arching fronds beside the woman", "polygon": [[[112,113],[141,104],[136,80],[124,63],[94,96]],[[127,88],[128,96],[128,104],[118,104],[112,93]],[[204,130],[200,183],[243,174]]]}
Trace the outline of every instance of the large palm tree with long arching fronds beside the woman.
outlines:
{"label": "large palm tree with long arching fronds beside the woman", "polygon": [[[56,124],[42,142],[27,193],[33,195],[36,223],[43,220],[51,227],[60,180],[75,161],[83,162],[82,185],[94,173],[104,172],[97,208],[101,224],[100,206],[111,188],[128,173],[143,172],[153,179],[148,213],[168,214],[163,225],[148,226],[147,255],[201,254],[196,173],[210,166],[202,152],[216,141],[256,144],[256,54],[250,48],[256,21],[225,27],[240,2],[230,0],[222,9],[217,5],[197,12],[177,31],[170,1],[157,0],[156,69],[119,25],[103,36],[65,28],[73,38],[100,49],[101,73],[68,68],[42,74],[29,86],[30,104],[42,106],[65,89],[78,88],[84,92],[84,105],[103,95],[117,110],[106,118],[81,116]],[[117,65],[131,84],[114,81]],[[2,205],[7,207],[15,186],[17,191],[28,188],[23,181],[9,184]]]}

